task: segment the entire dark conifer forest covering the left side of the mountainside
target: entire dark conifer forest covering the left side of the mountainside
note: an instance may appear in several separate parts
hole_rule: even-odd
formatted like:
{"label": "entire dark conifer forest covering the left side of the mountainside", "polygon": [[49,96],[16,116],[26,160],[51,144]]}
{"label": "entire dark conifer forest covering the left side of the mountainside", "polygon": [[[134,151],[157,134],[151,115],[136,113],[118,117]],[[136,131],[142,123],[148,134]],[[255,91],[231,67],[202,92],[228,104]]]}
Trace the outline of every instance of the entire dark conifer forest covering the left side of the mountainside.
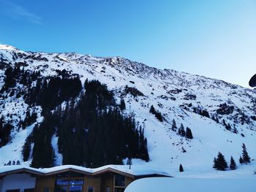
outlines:
{"label": "entire dark conifer forest covering the left side of the mountainside", "polygon": [[[67,75],[41,77],[19,67],[8,68],[5,75],[2,96],[23,96],[29,105],[20,126],[35,124],[23,145],[23,161],[32,158],[31,166],[55,165],[53,135],[59,138],[62,164],[97,167],[123,164],[125,158],[149,160],[143,129],[135,126],[132,115],[124,115],[124,101],[120,107],[106,85],[96,80],[82,85],[78,77]],[[42,107],[41,123],[31,110],[35,106]],[[11,123],[0,123],[1,145],[9,141]]]}

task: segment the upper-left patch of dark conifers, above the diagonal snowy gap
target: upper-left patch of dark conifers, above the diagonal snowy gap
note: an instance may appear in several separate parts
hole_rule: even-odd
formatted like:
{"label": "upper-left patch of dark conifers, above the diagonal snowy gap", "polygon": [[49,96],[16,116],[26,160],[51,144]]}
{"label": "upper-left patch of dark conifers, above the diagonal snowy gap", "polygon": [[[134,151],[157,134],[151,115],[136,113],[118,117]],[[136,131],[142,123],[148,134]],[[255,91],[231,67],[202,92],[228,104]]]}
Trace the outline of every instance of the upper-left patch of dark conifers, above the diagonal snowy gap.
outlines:
{"label": "upper-left patch of dark conifers, above the diagonal snowy gap", "polygon": [[[20,67],[10,67],[4,74],[4,85],[0,93],[10,92],[11,96],[16,93],[16,97],[24,95],[27,104],[40,105],[46,112],[78,96],[82,88],[79,77],[41,77],[39,71],[32,72]],[[14,91],[17,83],[23,85],[23,88]]]}

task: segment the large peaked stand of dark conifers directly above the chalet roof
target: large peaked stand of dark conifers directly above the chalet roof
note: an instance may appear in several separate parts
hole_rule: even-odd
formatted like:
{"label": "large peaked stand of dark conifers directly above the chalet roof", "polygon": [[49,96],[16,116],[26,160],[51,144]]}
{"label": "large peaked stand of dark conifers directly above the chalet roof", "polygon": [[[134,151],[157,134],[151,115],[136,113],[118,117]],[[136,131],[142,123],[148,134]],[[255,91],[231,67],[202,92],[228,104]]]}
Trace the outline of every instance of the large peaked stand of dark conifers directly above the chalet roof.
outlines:
{"label": "large peaked stand of dark conifers directly above the chalet roof", "polygon": [[[124,108],[116,104],[107,86],[86,80],[85,89],[79,99],[69,99],[64,109],[57,107],[34,129],[31,166],[49,167],[54,164],[50,141],[55,131],[63,164],[97,167],[122,164],[124,158],[149,161],[143,128],[136,128],[133,118],[121,115]],[[28,141],[23,147],[26,149],[24,159],[30,154],[29,145]]]}

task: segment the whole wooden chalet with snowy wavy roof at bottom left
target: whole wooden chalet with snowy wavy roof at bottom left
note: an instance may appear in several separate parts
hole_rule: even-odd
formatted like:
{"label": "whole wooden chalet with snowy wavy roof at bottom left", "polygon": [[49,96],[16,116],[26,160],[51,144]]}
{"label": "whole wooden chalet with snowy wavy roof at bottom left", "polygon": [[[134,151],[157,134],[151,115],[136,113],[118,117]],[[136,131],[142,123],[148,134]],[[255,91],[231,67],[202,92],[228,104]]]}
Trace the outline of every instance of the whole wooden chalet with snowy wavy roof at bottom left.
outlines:
{"label": "whole wooden chalet with snowy wavy roof at bottom left", "polygon": [[170,176],[153,171],[141,174],[140,171],[118,169],[116,166],[102,166],[97,169],[68,165],[48,169],[2,166],[0,167],[0,191],[123,192],[129,183],[143,177]]}

